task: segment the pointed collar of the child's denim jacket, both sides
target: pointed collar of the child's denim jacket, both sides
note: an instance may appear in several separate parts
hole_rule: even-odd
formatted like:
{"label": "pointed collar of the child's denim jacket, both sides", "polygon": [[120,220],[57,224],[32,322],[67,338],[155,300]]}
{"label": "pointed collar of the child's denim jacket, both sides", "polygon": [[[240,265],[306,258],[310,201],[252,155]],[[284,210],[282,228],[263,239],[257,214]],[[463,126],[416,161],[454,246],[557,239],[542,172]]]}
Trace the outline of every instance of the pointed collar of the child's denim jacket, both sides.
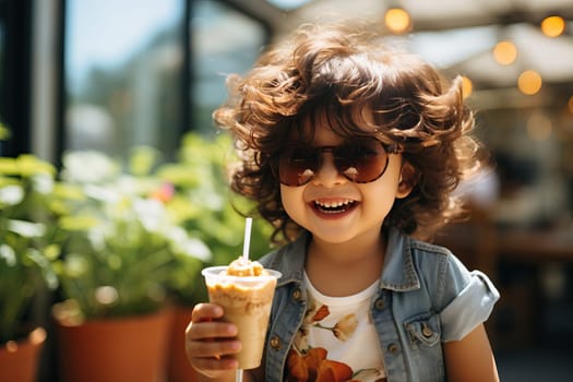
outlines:
{"label": "pointed collar of the child's denim jacket, both sides", "polygon": [[[277,286],[302,282],[305,259],[310,239],[310,232],[303,231],[295,241],[270,254],[270,261],[264,265],[283,274]],[[394,228],[390,230],[389,235],[380,287],[396,291],[419,289],[420,287],[420,280],[414,266],[411,239]]]}

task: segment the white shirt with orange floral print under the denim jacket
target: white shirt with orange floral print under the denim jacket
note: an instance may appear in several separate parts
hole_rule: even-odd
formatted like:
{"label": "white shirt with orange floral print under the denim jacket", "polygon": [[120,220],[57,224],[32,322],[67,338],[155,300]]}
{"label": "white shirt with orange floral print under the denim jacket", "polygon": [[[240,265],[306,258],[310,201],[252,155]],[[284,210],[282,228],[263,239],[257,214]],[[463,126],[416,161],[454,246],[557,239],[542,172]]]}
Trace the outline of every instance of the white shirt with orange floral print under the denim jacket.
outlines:
{"label": "white shirt with orange floral print under the denim jacket", "polygon": [[309,303],[290,348],[286,381],[386,381],[382,351],[369,314],[378,282],[348,297],[317,290],[305,273]]}

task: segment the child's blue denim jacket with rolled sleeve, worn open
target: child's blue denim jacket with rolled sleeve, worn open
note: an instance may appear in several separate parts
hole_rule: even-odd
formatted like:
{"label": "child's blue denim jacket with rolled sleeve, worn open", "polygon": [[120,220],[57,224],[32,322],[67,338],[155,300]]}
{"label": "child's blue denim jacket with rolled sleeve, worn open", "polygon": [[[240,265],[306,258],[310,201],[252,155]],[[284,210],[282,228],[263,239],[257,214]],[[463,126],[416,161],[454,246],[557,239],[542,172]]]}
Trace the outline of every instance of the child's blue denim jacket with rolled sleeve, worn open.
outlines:
{"label": "child's blue denim jacket with rolled sleeve, worn open", "polygon": [[[260,260],[283,273],[266,336],[266,381],[283,380],[288,350],[305,319],[309,240],[310,234],[303,234]],[[445,381],[441,344],[462,339],[486,321],[498,299],[489,278],[469,272],[447,249],[392,229],[380,288],[370,305],[387,381]]]}

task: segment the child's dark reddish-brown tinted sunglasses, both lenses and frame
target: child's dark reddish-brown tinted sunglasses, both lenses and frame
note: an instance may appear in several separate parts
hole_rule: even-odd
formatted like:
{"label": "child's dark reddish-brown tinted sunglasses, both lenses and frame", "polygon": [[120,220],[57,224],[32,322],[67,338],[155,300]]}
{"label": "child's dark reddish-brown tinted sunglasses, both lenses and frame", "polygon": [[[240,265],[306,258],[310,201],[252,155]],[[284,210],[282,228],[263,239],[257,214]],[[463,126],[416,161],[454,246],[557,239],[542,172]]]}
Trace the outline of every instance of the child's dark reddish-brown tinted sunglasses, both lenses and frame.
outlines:
{"label": "child's dark reddish-brown tinted sunglasses, both lenses and frame", "polygon": [[355,139],[337,146],[312,147],[290,143],[278,155],[278,181],[298,187],[308,183],[322,166],[323,153],[331,153],[338,174],[355,183],[369,183],[386,170],[389,154],[399,153],[395,144],[374,139]]}

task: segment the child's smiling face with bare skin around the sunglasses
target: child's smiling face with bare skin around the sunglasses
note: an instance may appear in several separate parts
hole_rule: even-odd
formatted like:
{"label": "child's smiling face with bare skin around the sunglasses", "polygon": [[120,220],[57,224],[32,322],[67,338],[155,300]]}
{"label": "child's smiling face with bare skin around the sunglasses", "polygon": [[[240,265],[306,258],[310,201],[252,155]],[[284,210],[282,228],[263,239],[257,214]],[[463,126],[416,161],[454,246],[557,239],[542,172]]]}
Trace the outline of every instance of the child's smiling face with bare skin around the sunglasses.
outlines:
{"label": "child's smiling face with bare skin around the sunglasses", "polygon": [[[318,127],[311,147],[338,146],[345,141],[329,127]],[[380,178],[356,183],[341,174],[333,154],[323,150],[322,166],[302,186],[280,184],[280,196],[287,214],[308,229],[315,239],[331,243],[378,238],[382,223],[396,198],[408,195],[410,188],[398,186],[402,156],[389,154],[387,166]],[[350,177],[351,178],[351,177]]]}

